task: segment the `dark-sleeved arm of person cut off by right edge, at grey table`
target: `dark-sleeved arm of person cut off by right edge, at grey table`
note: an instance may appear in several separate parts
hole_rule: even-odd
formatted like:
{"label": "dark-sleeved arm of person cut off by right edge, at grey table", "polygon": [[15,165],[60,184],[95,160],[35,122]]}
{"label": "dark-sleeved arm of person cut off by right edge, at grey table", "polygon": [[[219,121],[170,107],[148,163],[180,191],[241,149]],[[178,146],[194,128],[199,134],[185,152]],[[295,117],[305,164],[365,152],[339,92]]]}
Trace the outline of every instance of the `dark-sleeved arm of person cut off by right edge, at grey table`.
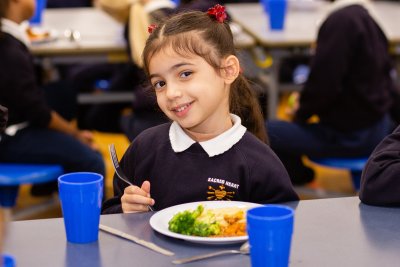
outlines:
{"label": "dark-sleeved arm of person cut off by right edge, at grey table", "polygon": [[360,200],[369,205],[400,206],[400,126],[369,157],[361,175]]}

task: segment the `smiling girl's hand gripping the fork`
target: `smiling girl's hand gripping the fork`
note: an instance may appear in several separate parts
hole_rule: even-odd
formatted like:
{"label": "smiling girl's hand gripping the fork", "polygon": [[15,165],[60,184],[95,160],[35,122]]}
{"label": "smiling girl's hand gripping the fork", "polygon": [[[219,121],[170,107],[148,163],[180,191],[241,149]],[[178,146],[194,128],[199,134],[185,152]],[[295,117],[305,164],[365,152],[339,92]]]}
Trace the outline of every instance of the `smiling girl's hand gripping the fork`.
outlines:
{"label": "smiling girl's hand gripping the fork", "polygon": [[128,186],[121,197],[122,211],[124,213],[148,211],[148,206],[154,205],[150,197],[150,182],[144,181],[142,187]]}

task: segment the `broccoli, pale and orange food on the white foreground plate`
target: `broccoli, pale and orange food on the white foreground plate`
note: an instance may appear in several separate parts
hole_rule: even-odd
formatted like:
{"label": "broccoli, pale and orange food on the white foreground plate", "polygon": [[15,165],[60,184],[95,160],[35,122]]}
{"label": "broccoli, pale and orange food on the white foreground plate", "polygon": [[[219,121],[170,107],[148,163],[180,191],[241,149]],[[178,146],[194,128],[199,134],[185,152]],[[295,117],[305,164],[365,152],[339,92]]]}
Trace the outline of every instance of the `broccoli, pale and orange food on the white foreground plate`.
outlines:
{"label": "broccoli, pale and orange food on the white foreground plate", "polygon": [[185,210],[175,214],[168,222],[168,229],[179,234],[202,237],[244,236],[245,215],[245,208],[206,209],[203,205],[199,205],[195,210]]}

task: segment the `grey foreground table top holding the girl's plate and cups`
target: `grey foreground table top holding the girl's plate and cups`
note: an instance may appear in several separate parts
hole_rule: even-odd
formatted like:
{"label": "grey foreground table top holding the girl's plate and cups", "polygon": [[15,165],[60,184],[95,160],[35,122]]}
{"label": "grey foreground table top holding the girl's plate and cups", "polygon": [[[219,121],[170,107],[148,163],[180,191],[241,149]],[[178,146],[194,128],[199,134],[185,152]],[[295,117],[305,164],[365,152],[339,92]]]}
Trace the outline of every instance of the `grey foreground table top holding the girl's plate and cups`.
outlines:
{"label": "grey foreground table top holding the girl's plate and cups", "polygon": [[[295,210],[290,266],[397,266],[400,262],[400,208],[374,207],[358,197],[284,203]],[[158,211],[163,212],[163,211]],[[154,231],[155,212],[101,215],[100,223],[174,252],[165,256],[132,241],[100,231],[97,242],[66,241],[62,218],[14,221],[8,225],[5,252],[18,267],[176,266],[173,260],[241,243],[194,243]],[[184,266],[246,267],[249,255],[225,255]]]}

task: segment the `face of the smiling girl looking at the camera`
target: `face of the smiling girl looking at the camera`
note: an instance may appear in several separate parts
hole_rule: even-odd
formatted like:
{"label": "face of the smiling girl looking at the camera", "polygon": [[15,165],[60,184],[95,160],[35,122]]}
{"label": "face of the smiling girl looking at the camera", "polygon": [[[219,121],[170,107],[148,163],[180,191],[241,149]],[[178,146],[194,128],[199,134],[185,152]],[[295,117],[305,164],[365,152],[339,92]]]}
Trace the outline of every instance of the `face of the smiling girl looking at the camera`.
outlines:
{"label": "face of the smiling girl looking at the camera", "polygon": [[182,128],[200,134],[221,130],[229,119],[230,81],[202,57],[183,57],[166,48],[149,62],[161,110]]}

